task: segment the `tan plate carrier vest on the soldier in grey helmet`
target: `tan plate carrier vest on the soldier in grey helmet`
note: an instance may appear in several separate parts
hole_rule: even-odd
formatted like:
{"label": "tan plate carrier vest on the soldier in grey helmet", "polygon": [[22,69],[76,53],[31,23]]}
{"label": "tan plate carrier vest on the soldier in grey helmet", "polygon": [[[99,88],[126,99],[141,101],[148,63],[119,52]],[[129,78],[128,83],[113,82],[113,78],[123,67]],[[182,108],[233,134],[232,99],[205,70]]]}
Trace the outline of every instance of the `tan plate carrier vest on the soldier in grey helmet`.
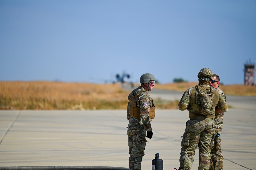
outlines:
{"label": "tan plate carrier vest on the soldier in grey helmet", "polygon": [[[130,116],[132,116],[134,118],[141,118],[140,117],[140,108],[137,107],[137,99],[142,92],[147,92],[147,91],[144,89],[141,89],[135,96],[131,95],[131,98],[130,98],[129,114],[130,114]],[[154,106],[153,101],[152,101],[152,105],[153,106],[149,108],[149,118],[154,119],[156,113],[155,113],[155,106]]]}

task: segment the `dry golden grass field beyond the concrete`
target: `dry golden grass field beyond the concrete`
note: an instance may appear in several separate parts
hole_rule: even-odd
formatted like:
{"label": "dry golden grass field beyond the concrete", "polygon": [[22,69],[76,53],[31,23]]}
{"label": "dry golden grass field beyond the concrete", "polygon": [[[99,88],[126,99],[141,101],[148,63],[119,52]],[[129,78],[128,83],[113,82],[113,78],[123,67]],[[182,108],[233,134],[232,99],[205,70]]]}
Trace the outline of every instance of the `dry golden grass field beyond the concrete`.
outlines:
{"label": "dry golden grass field beyond the concrete", "polygon": [[[154,88],[184,92],[197,83],[156,84]],[[135,88],[139,86],[136,85]],[[256,86],[220,86],[226,95],[256,96]],[[0,82],[0,109],[126,109],[130,92],[120,84],[65,82]],[[177,109],[178,101],[154,100],[159,109]]]}

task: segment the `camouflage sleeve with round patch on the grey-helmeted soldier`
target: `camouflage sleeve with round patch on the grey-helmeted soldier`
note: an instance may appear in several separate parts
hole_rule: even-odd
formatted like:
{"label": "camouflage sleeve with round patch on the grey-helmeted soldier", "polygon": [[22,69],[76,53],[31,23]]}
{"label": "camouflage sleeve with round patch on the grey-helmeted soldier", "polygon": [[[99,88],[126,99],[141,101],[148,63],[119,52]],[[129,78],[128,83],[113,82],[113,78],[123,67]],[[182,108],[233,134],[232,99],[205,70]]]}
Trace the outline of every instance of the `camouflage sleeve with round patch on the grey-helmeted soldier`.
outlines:
{"label": "camouflage sleeve with round patch on the grey-helmeted soldier", "polygon": [[150,103],[152,103],[150,100],[151,98],[149,98],[147,92],[142,92],[137,100],[137,102],[139,102],[137,104],[140,106],[140,117],[146,131],[152,131],[151,123],[149,121],[149,108]]}

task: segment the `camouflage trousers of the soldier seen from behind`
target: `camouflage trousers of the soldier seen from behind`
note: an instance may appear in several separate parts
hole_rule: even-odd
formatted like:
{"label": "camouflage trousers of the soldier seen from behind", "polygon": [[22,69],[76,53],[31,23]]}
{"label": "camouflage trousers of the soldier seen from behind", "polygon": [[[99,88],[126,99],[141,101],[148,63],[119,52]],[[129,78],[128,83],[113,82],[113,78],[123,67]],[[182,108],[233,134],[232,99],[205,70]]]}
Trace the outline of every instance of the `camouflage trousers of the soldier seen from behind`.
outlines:
{"label": "camouflage trousers of the soldier seen from behind", "polygon": [[190,170],[194,162],[194,154],[199,149],[198,170],[208,170],[211,162],[211,150],[214,146],[214,119],[195,117],[186,122],[185,133],[181,140],[179,170]]}

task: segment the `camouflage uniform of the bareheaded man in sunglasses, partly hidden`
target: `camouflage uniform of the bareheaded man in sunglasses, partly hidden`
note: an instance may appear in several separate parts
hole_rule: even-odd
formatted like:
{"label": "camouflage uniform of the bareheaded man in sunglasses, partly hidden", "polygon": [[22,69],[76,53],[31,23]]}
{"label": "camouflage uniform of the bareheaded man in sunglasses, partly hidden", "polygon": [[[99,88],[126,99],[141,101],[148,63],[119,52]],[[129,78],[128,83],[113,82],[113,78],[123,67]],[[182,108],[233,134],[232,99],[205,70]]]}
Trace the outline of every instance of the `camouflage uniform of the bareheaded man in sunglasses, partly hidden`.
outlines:
{"label": "camouflage uniform of the bareheaded man in sunglasses, partly hidden", "polygon": [[[222,90],[218,87],[217,90],[222,95],[223,99],[226,101],[226,95]],[[223,155],[221,150],[221,133],[223,129],[223,116],[224,113],[217,113],[215,112],[215,124],[216,130],[214,133],[214,148],[211,150],[212,160],[211,160],[211,170],[223,170]],[[219,134],[220,136],[217,138],[216,135]]]}

